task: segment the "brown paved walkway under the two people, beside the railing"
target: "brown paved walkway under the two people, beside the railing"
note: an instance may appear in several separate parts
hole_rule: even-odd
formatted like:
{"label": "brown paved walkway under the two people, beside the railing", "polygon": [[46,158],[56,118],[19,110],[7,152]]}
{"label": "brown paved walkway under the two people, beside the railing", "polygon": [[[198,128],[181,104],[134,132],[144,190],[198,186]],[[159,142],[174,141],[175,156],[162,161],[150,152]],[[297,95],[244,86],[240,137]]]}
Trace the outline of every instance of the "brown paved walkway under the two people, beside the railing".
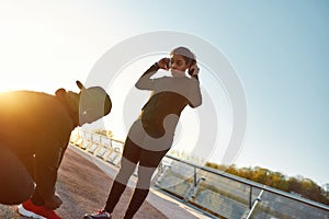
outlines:
{"label": "brown paved walkway under the two people, beside the railing", "polygon": [[[101,209],[107,198],[113,175],[117,169],[75,147],[69,147],[58,173],[57,193],[64,200],[57,210],[64,219],[81,219],[86,212]],[[129,182],[134,186],[134,178]],[[128,188],[114,209],[113,219],[123,216],[132,189]],[[0,205],[0,219],[23,219],[16,206]],[[188,206],[157,191],[151,191],[147,201],[135,216],[136,219],[194,219],[207,218]]]}

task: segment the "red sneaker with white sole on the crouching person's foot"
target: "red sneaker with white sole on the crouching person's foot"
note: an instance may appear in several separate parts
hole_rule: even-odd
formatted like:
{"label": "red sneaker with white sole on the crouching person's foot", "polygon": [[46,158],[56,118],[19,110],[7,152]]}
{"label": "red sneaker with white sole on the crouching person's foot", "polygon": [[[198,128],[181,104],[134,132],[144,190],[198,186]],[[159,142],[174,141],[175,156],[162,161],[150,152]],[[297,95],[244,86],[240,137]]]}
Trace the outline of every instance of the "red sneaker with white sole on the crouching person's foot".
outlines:
{"label": "red sneaker with white sole on the crouching person's foot", "polygon": [[37,219],[61,219],[55,210],[46,209],[44,206],[34,205],[31,199],[19,206],[19,212],[22,216]]}

